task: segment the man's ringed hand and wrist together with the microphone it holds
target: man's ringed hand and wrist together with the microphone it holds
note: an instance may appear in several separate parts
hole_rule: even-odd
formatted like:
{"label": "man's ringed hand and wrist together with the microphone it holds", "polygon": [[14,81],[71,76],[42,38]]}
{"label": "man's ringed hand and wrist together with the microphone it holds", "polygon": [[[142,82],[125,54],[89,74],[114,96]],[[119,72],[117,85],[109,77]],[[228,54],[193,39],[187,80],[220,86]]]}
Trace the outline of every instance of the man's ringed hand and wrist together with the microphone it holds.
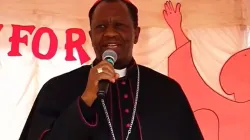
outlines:
{"label": "man's ringed hand and wrist together with the microphone it holds", "polygon": [[113,50],[103,53],[103,61],[90,69],[88,83],[82,99],[88,106],[91,106],[98,96],[103,98],[107,92],[109,83],[114,83],[119,75],[115,73],[113,65],[117,55]]}

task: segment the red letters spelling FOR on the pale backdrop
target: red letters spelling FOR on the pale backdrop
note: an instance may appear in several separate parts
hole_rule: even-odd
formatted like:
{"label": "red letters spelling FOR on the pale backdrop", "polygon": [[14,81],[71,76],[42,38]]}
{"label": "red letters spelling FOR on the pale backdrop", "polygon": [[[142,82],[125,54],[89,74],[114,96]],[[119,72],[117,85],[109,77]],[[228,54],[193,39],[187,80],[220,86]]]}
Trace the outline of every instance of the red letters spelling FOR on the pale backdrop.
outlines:
{"label": "red letters spelling FOR on the pale backdrop", "polygon": [[[3,28],[3,25],[0,24],[0,31]],[[58,49],[58,39],[54,31],[48,27],[41,27],[36,32],[34,25],[23,26],[23,25],[12,25],[12,36],[9,38],[9,42],[11,43],[11,50],[8,52],[8,56],[22,56],[19,51],[19,44],[23,43],[27,46],[28,44],[28,36],[24,35],[21,37],[21,31],[26,31],[30,35],[34,34],[32,39],[32,53],[33,55],[42,60],[49,60],[56,55]],[[39,44],[42,35],[48,34],[50,39],[50,45],[48,52],[46,54],[41,54],[39,52]],[[73,35],[77,34],[79,37],[77,40],[73,40]],[[90,60],[89,55],[82,48],[82,45],[86,42],[86,35],[82,29],[79,28],[70,28],[66,30],[66,61],[75,61],[76,58],[73,55],[73,49],[77,50],[79,59],[81,64]]]}

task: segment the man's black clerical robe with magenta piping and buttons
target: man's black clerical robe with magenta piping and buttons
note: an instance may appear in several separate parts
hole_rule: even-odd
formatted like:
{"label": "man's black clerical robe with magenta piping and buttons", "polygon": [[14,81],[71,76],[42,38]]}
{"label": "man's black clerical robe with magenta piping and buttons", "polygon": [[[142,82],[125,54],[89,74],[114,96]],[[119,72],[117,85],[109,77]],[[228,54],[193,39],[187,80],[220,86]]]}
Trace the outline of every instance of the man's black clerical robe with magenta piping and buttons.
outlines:
{"label": "man's black clerical robe with magenta piping and buttons", "polygon": [[[95,63],[94,63],[95,64]],[[80,98],[91,66],[49,80],[39,92],[20,140],[112,140],[100,100],[88,107]],[[129,140],[203,140],[180,85],[139,65],[140,89]],[[125,140],[137,87],[134,59],[125,77],[111,84],[105,104],[117,140]]]}

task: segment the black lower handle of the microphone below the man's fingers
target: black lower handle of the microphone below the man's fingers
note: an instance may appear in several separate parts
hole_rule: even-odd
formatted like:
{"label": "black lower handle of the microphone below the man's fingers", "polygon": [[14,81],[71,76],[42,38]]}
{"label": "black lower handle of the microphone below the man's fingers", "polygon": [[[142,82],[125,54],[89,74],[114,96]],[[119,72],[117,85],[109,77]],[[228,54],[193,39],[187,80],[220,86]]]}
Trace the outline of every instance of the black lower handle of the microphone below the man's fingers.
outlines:
{"label": "black lower handle of the microphone below the man's fingers", "polygon": [[108,80],[100,80],[98,84],[98,92],[97,92],[97,97],[104,99],[106,93],[108,92],[109,88],[109,81]]}

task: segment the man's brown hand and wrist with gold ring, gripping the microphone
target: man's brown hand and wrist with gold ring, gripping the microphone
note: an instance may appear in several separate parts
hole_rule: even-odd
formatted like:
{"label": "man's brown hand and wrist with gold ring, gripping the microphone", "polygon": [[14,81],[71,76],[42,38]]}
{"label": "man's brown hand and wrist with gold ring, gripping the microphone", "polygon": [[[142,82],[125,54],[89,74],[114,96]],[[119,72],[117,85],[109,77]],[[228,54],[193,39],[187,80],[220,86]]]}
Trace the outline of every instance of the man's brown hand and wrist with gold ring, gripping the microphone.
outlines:
{"label": "man's brown hand and wrist with gold ring, gripping the microphone", "polygon": [[115,73],[113,66],[107,61],[102,61],[90,69],[88,83],[81,98],[88,106],[91,106],[97,98],[98,83],[100,80],[109,80],[114,83],[119,75]]}

